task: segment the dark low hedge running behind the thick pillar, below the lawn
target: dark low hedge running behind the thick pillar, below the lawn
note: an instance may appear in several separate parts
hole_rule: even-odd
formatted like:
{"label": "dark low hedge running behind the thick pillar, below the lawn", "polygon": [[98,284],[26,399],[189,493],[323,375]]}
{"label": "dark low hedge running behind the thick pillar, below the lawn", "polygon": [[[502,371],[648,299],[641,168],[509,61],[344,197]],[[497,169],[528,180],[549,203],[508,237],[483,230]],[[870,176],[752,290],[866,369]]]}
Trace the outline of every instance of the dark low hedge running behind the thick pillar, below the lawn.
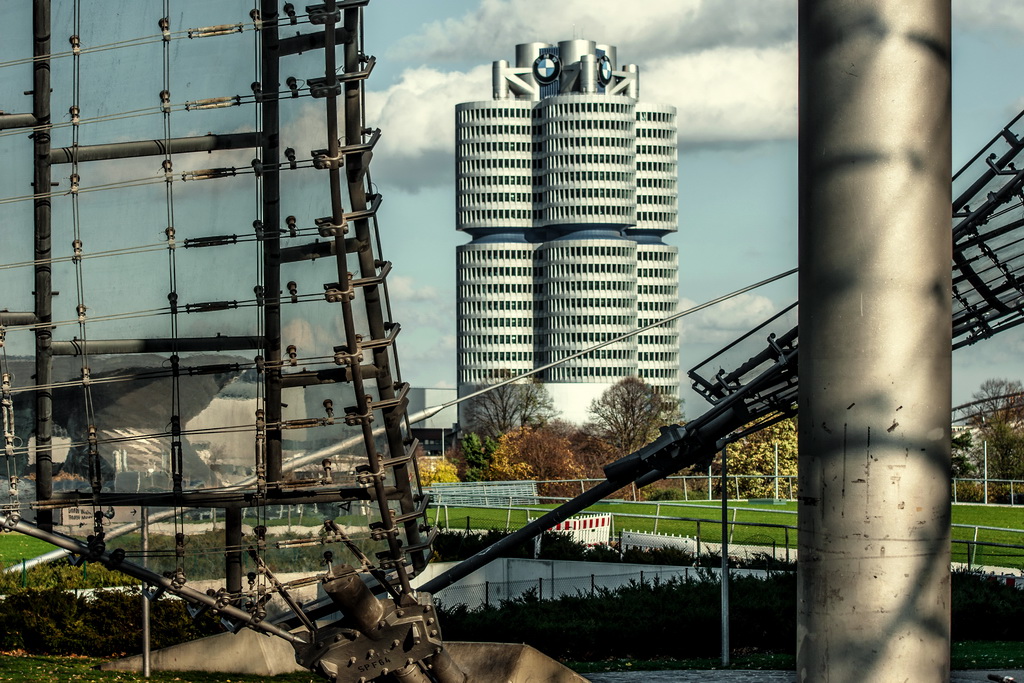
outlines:
{"label": "dark low hedge running behind the thick pillar, below the lawn", "polygon": [[[1024,591],[972,572],[952,578],[952,640],[1024,640]],[[734,651],[794,654],[796,572],[733,577],[729,585]],[[499,606],[440,606],[447,640],[528,643],[559,658],[707,657],[720,649],[721,593],[713,579],[671,580],[597,595]]]}

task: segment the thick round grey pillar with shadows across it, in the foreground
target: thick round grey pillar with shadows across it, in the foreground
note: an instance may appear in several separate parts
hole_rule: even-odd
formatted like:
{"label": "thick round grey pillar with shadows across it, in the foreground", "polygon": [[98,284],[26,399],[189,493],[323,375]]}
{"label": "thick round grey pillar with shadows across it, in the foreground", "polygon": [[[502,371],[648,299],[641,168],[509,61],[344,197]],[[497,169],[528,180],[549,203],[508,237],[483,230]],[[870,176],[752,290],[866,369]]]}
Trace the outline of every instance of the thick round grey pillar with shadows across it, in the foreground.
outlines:
{"label": "thick round grey pillar with shadows across it, in the foreground", "polygon": [[949,680],[948,0],[801,0],[801,681]]}

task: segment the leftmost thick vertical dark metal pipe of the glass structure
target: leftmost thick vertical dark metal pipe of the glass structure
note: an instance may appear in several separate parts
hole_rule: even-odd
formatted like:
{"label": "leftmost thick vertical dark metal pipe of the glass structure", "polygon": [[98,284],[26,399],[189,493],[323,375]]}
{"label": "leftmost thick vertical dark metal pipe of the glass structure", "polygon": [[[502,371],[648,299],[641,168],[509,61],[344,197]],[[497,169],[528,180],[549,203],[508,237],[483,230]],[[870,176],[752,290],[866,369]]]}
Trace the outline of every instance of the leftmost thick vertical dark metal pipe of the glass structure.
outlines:
{"label": "leftmost thick vertical dark metal pipe of the glass structure", "polygon": [[[50,0],[33,0],[32,4],[32,114],[37,127],[33,130],[33,193],[35,232],[35,313],[41,324],[36,328],[36,500],[46,501],[53,495],[53,359],[49,326],[53,311],[50,211]],[[45,530],[53,528],[53,513],[39,510],[36,522]]]}

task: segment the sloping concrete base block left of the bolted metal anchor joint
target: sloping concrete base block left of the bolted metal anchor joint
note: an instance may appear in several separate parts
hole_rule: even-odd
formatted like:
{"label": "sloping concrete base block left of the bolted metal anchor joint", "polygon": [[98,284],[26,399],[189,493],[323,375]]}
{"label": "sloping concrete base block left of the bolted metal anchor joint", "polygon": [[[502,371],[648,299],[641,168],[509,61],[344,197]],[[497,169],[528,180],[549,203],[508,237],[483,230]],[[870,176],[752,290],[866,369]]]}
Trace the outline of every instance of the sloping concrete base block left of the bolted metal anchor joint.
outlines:
{"label": "sloping concrete base block left of the bolted metal anchor joint", "polygon": [[[276,676],[305,671],[295,660],[295,650],[275,636],[252,629],[221,633],[155,650],[150,657],[153,671],[208,671],[252,676]],[[100,669],[142,671],[142,655],[114,659]]]}

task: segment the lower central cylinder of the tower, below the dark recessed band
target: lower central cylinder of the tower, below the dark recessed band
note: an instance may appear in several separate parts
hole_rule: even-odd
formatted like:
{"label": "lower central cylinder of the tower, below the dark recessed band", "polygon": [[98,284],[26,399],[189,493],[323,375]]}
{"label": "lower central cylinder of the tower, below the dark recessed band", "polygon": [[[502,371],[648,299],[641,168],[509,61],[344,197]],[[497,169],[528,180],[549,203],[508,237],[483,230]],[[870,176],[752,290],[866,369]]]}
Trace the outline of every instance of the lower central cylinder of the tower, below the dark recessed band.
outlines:
{"label": "lower central cylinder of the tower, below the dark recessed band", "polygon": [[[538,352],[554,362],[636,325],[636,243],[582,230],[540,247]],[[637,372],[636,338],[547,371],[550,383],[613,384]]]}

